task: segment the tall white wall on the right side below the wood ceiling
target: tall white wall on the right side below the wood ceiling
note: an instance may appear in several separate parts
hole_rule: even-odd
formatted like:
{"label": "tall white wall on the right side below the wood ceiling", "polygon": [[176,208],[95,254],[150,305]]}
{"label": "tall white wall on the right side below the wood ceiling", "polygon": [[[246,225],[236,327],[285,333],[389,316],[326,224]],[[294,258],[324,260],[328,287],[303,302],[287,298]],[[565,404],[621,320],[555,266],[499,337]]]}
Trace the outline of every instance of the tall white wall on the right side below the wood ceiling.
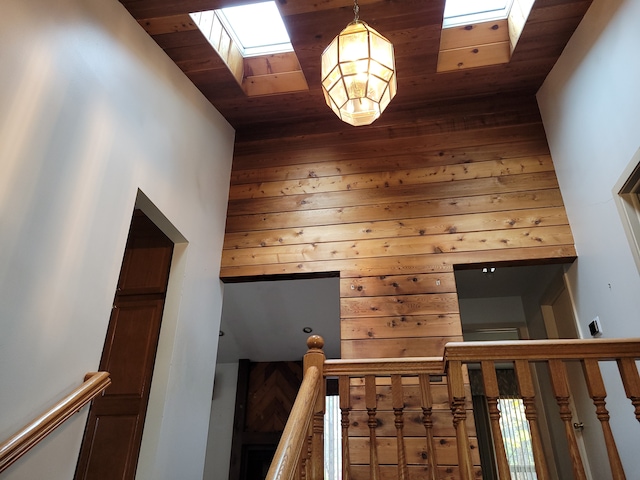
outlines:
{"label": "tall white wall on the right side below the wood ceiling", "polygon": [[[640,337],[640,275],[612,193],[640,146],[638,18],[640,0],[594,0],[538,92],[578,251],[567,275],[578,322],[588,332],[599,316],[609,338]],[[633,475],[640,471],[640,426],[616,369],[605,375],[618,448]]]}

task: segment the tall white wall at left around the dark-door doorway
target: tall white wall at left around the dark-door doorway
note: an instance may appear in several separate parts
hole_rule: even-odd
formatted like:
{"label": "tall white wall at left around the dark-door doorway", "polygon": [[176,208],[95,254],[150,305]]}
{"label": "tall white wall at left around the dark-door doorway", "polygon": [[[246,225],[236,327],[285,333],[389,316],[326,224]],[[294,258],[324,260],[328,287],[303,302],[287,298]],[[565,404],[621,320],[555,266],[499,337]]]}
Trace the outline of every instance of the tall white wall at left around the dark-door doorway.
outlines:
{"label": "tall white wall at left around the dark-door doorway", "polygon": [[[0,439],[97,369],[140,189],[188,243],[138,478],[200,479],[233,129],[117,0],[5,0],[2,15]],[[72,478],[86,412],[3,478]]]}

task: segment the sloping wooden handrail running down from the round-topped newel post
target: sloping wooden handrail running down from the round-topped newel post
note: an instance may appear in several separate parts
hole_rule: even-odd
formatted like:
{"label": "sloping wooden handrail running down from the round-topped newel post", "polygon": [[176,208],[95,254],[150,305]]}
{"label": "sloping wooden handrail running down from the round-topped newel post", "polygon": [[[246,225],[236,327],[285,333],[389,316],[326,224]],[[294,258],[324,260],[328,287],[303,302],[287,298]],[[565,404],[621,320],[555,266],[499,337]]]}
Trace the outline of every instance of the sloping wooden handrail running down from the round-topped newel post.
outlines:
{"label": "sloping wooden handrail running down from the round-topped newel post", "polygon": [[320,393],[320,371],[310,367],[282,432],[266,480],[291,480],[296,474],[300,452],[307,440],[316,400]]}

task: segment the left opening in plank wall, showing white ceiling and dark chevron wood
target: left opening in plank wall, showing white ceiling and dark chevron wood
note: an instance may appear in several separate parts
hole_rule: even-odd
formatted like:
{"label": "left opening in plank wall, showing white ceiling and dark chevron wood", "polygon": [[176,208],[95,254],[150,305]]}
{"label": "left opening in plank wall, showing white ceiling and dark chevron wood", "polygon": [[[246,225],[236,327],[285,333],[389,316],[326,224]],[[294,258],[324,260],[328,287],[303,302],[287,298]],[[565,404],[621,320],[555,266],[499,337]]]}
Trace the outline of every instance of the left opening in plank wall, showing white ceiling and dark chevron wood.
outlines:
{"label": "left opening in plank wall, showing white ceiling and dark chevron wood", "polygon": [[227,478],[222,466],[231,480],[263,478],[284,429],[279,419],[288,417],[282,407],[302,380],[307,338],[321,335],[327,358],[340,358],[336,272],[245,280],[224,284],[205,478],[214,468]]}

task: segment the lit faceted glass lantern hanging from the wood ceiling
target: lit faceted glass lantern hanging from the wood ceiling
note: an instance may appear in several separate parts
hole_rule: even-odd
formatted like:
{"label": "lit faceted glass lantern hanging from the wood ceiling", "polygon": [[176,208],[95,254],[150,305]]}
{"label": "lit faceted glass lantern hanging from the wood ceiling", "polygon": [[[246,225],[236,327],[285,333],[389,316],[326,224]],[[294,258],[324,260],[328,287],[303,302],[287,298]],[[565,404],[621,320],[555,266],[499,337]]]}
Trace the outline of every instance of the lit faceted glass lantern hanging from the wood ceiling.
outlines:
{"label": "lit faceted glass lantern hanging from the wood ceiling", "polygon": [[393,45],[355,18],[322,53],[322,92],[327,105],[344,122],[369,125],[396,94]]}

